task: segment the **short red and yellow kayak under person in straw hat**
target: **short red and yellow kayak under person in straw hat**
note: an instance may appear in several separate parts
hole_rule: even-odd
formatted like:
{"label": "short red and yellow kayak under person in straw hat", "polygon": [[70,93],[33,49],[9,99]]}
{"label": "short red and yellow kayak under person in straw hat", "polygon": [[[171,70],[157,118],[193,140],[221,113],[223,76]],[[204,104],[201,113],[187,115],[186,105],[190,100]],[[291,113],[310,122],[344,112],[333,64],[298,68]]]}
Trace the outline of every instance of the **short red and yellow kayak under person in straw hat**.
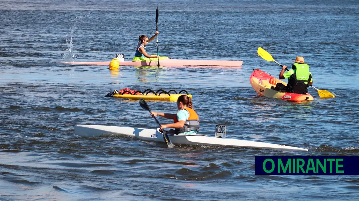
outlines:
{"label": "short red and yellow kayak under person in straw hat", "polygon": [[268,73],[263,72],[262,70],[255,69],[249,78],[249,81],[256,92],[262,97],[269,98],[278,98],[282,100],[314,100],[313,96],[309,93],[307,94],[296,94],[296,93],[286,93],[280,92],[274,89],[271,89],[271,86],[275,87],[277,83],[287,83],[283,82],[280,79],[277,79],[271,76]]}

